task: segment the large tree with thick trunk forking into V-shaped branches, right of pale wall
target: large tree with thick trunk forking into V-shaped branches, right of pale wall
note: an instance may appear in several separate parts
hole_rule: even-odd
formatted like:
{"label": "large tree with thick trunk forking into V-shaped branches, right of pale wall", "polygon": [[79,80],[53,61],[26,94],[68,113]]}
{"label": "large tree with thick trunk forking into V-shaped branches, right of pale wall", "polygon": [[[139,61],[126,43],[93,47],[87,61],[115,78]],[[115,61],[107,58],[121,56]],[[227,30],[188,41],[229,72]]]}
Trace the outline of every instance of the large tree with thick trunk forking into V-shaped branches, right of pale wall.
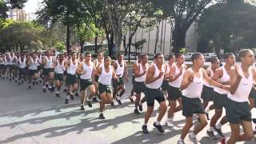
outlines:
{"label": "large tree with thick trunk forking into V-shaped branches, right of pale wall", "polygon": [[212,0],[174,0],[167,2],[167,0],[152,0],[154,6],[162,8],[167,15],[174,18],[174,48],[172,52],[178,53],[182,47],[186,46],[186,31],[211,1]]}

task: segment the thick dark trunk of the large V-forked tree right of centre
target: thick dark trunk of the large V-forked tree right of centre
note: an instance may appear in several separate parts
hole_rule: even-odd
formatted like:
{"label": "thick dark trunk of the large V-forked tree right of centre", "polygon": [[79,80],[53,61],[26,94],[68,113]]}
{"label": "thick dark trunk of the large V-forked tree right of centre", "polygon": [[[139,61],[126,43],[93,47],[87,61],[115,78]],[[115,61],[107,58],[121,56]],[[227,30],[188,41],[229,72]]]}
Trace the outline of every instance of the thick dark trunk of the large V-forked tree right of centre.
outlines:
{"label": "thick dark trunk of the large V-forked tree right of centre", "polygon": [[179,26],[174,27],[174,45],[172,52],[178,54],[179,50],[186,46],[186,30],[180,29]]}

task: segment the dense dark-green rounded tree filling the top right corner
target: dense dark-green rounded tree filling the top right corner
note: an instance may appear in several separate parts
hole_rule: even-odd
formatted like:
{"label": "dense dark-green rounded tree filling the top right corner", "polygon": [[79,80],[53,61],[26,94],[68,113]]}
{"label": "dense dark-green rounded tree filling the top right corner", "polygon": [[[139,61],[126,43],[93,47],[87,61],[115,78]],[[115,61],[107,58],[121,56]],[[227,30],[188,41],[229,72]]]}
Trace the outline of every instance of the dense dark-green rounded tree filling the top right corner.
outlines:
{"label": "dense dark-green rounded tree filling the top right corner", "polygon": [[[212,47],[234,52],[254,47],[256,42],[256,8],[243,2],[226,2],[204,10],[198,21],[200,51]],[[204,49],[203,49],[204,48]]]}

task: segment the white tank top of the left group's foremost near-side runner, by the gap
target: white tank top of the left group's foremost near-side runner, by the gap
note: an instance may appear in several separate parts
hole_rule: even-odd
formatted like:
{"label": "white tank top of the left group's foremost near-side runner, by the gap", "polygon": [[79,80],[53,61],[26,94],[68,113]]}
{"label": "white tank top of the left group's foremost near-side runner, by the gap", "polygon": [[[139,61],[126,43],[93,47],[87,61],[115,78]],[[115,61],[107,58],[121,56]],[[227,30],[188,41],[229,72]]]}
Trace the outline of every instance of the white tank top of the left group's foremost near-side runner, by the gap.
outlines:
{"label": "white tank top of the left group's foremost near-side runner, by the gap", "polygon": [[113,76],[113,66],[110,66],[110,71],[106,73],[105,66],[102,66],[102,74],[99,75],[98,82],[103,85],[110,85]]}

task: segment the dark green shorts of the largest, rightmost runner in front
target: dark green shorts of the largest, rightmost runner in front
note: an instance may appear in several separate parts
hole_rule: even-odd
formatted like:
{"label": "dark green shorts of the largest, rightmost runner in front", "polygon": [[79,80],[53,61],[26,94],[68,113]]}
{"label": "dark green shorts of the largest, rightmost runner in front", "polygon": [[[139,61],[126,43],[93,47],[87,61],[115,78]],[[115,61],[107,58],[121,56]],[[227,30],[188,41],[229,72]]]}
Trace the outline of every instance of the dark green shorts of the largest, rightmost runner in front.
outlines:
{"label": "dark green shorts of the largest, rightmost runner in front", "polygon": [[238,124],[242,121],[251,122],[250,106],[248,102],[235,102],[227,98],[226,118],[228,122]]}

